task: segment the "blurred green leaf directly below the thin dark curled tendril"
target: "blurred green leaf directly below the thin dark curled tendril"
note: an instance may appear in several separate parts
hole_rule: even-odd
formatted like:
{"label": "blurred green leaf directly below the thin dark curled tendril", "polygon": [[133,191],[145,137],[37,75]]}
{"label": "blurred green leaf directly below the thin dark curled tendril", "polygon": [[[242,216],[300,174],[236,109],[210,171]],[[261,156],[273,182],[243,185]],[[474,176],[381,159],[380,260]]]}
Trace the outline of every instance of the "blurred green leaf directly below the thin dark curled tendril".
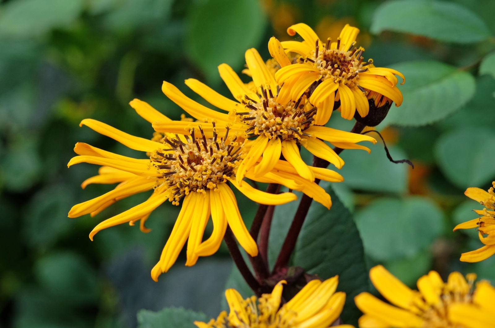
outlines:
{"label": "blurred green leaf directly below the thin dark curled tendril", "polygon": [[[373,133],[370,135],[374,136]],[[345,180],[339,184],[346,184],[355,190],[405,193],[409,165],[390,162],[383,144],[369,144],[366,147],[371,149],[371,154],[362,150],[346,150],[342,153],[346,164],[339,173]],[[391,147],[389,151],[394,160],[406,158],[406,154],[397,147]]]}

